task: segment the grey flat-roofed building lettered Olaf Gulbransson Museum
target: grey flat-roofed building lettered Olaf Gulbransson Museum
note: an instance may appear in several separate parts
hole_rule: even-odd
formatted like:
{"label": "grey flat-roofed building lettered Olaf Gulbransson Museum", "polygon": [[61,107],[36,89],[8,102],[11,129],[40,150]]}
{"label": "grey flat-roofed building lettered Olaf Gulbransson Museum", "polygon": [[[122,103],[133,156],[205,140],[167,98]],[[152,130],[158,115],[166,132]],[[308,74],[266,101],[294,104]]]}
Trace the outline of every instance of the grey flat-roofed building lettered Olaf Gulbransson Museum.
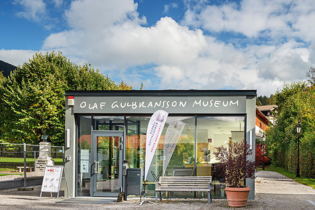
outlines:
{"label": "grey flat-roofed building lettered Olaf Gulbransson Museum", "polygon": [[[212,197],[226,197],[218,146],[244,139],[255,160],[256,90],[126,90],[66,91],[65,172],[70,197],[117,196],[124,191],[123,160],[128,168],[144,168],[148,122],[157,110],[168,114],[146,181],[146,197],[155,195],[161,176],[212,176]],[[171,145],[165,133],[173,122],[183,125]],[[171,147],[170,156],[165,154]],[[167,150],[168,152],[170,150]],[[167,160],[167,161],[166,161]],[[249,199],[255,180],[246,179]],[[202,198],[203,192],[163,193],[162,197]]]}

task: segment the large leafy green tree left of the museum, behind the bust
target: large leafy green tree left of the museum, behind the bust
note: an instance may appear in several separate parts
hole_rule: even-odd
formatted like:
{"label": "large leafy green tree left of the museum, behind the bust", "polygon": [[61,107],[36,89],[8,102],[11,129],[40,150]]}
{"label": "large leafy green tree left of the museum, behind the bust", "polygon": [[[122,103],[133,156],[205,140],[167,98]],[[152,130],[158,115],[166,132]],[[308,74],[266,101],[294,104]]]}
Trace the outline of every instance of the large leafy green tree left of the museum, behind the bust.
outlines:
{"label": "large leafy green tree left of the museum, behind the bust", "polygon": [[0,139],[35,143],[47,130],[53,145],[64,142],[65,90],[131,90],[91,65],[78,66],[59,52],[37,52],[8,78],[0,75]]}

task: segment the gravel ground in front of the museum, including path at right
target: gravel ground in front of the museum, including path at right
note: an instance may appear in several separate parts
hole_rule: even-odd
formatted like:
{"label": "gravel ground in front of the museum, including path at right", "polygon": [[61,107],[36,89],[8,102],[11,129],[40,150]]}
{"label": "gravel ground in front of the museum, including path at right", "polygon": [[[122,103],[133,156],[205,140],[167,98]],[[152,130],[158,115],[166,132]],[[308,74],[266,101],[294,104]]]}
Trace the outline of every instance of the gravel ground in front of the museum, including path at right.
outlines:
{"label": "gravel ground in front of the museum, including path at right", "polygon": [[[311,187],[298,184],[276,172],[263,171],[257,173],[257,176],[255,183],[256,200],[250,200],[246,207],[238,209],[315,210],[315,206],[305,200],[315,202],[315,190]],[[139,206],[139,199],[128,199],[128,201],[110,204],[73,204],[55,203],[56,198],[51,199],[50,193],[43,193],[42,200],[39,201],[39,195],[40,186],[33,191],[0,191],[0,209],[232,209],[226,206],[226,199],[213,199],[211,204],[207,203],[207,199],[169,199],[169,201],[163,199],[162,203],[144,203]],[[53,196],[56,196],[56,193],[53,193]]]}

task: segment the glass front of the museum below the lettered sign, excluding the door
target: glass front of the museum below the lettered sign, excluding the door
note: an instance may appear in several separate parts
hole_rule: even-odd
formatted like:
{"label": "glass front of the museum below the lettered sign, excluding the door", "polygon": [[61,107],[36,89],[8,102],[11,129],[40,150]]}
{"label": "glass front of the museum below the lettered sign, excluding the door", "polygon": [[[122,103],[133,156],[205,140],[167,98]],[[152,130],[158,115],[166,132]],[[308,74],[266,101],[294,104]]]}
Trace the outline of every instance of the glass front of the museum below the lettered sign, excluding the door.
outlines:
{"label": "glass front of the museum below the lettered sign, excluding the door", "polygon": [[[151,115],[143,116],[78,116],[77,117],[77,195],[89,195],[89,172],[82,172],[81,153],[91,153],[91,127],[100,131],[123,131],[125,128],[125,159],[129,168],[143,168],[145,165],[146,132]],[[175,125],[175,126],[174,126]],[[172,136],[176,126],[182,126],[176,130],[177,136]],[[213,187],[212,197],[226,197],[223,190],[225,184],[216,171],[218,161],[215,160],[213,152],[215,147],[225,146],[228,143],[239,142],[244,139],[244,116],[196,116],[196,115],[171,115],[167,117],[160,140],[153,156],[148,175],[146,177],[146,196],[154,196],[155,177],[161,176],[212,176]],[[177,127],[178,128],[178,127]],[[171,133],[171,134],[170,134]],[[175,139],[170,141],[171,137]],[[87,140],[89,139],[89,140]],[[107,139],[107,138],[106,138]],[[111,142],[108,139],[106,142]],[[114,142],[113,142],[114,143]],[[100,150],[110,150],[111,145],[100,145]],[[106,149],[106,148],[107,149]],[[105,148],[105,149],[104,149]],[[82,149],[84,151],[82,151]],[[106,152],[105,152],[106,153]],[[115,162],[114,157],[108,154],[113,160],[104,161],[101,168],[113,167],[109,163]],[[117,158],[117,157],[116,157]],[[117,161],[117,160],[116,160]],[[86,161],[83,163],[86,163]],[[91,164],[91,163],[89,163]],[[114,169],[112,169],[114,170]],[[84,170],[83,170],[84,171]],[[106,179],[117,178],[111,170],[107,170]],[[104,179],[103,179],[104,181]],[[114,180],[112,180],[114,183]],[[105,182],[104,182],[105,183]],[[100,189],[106,191],[109,186],[103,183]],[[115,184],[114,184],[115,185]],[[115,185],[116,186],[116,185]],[[115,189],[116,190],[116,189]],[[167,197],[207,197],[203,192],[162,192]]]}

